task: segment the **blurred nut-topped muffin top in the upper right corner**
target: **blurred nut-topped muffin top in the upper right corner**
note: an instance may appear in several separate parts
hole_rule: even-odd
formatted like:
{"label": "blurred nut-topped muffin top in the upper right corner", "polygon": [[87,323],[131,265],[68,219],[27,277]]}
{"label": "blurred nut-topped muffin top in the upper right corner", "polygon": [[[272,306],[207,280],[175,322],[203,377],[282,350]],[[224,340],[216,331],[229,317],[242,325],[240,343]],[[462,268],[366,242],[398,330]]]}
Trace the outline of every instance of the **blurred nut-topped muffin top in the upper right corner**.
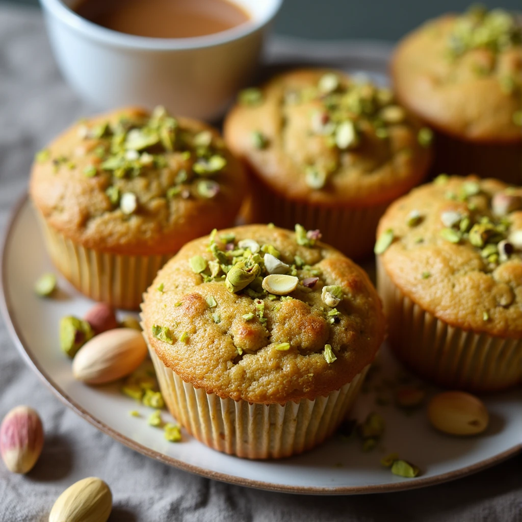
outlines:
{"label": "blurred nut-topped muffin top in the upper right corner", "polygon": [[522,140],[520,20],[470,9],[429,21],[395,51],[399,100],[430,125],[471,141]]}

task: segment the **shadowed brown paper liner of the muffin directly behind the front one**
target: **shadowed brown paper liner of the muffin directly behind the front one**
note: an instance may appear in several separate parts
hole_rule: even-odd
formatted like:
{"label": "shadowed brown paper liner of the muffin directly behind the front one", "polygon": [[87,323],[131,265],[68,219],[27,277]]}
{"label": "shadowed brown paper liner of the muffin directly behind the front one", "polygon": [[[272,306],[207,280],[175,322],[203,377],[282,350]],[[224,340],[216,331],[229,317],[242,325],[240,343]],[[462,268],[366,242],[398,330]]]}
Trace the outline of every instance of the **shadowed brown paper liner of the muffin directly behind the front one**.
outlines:
{"label": "shadowed brown paper liner of the muffin directly behind the front one", "polygon": [[[253,177],[253,176],[251,176]],[[377,224],[392,200],[374,206],[324,206],[284,198],[258,180],[254,181],[252,219],[272,222],[293,230],[295,223],[306,229],[319,229],[323,242],[334,246],[352,259],[373,252]]]}

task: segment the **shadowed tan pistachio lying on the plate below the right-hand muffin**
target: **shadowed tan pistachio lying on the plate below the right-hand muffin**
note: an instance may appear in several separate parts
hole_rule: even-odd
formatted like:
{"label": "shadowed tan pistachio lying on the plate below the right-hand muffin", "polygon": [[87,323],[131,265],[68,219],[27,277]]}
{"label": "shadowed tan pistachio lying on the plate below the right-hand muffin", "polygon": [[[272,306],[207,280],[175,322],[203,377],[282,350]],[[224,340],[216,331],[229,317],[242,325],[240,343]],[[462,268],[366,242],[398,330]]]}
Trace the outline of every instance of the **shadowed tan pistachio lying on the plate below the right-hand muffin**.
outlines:
{"label": "shadowed tan pistachio lying on the plate below the right-hand muffin", "polygon": [[428,406],[428,418],[434,428],[450,435],[477,435],[489,422],[484,403],[465,392],[435,395]]}

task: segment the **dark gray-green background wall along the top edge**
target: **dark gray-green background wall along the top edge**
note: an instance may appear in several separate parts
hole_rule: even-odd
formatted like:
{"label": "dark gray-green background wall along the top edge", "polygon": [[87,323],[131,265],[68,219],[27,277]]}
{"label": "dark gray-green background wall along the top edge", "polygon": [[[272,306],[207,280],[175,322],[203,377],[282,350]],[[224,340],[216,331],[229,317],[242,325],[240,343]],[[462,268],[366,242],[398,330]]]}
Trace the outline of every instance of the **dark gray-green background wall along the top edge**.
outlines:
{"label": "dark gray-green background wall along the top edge", "polygon": [[[144,0],[146,1],[146,0]],[[38,0],[0,0],[38,5]],[[276,32],[321,39],[397,40],[424,20],[461,11],[473,0],[284,0]],[[521,0],[482,2],[488,7],[522,8]]]}

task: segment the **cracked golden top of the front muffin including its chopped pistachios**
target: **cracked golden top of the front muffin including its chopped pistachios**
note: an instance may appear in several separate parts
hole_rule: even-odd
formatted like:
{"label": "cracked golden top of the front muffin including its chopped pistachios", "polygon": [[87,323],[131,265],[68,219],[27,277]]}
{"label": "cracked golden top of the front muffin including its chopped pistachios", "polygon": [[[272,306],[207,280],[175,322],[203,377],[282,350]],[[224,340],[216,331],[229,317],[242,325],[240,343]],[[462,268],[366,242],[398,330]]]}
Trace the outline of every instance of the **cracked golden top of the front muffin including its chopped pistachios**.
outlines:
{"label": "cracked golden top of the front muffin including its chopped pistachios", "polygon": [[185,245],[142,305],[163,363],[208,393],[265,404],[349,383],[383,341],[381,302],[365,272],[319,236],[251,225]]}

